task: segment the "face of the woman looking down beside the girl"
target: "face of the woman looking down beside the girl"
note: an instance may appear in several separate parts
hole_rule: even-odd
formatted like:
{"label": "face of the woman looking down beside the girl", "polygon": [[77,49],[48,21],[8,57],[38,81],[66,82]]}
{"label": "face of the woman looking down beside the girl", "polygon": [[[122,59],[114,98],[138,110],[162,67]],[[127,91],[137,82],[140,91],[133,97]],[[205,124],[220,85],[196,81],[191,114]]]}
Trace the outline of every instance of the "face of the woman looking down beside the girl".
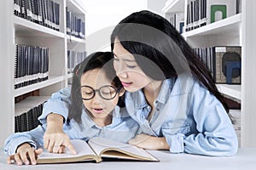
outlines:
{"label": "face of the woman looking down beside the girl", "polygon": [[114,41],[113,54],[113,67],[125,90],[135,92],[148,86],[150,78],[145,75],[134,56],[123,48],[117,38]]}

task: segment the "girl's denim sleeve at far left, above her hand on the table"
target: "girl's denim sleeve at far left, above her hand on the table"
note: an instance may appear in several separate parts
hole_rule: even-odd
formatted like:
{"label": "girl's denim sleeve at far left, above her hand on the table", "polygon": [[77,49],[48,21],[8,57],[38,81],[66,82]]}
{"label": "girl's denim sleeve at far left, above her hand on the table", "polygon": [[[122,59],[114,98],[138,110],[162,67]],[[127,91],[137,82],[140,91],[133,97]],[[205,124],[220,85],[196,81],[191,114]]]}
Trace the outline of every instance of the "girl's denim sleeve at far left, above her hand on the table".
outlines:
{"label": "girl's denim sleeve at far left, above her hand on the table", "polygon": [[44,127],[38,126],[28,132],[13,133],[4,142],[4,152],[8,155],[14,155],[20,144],[24,143],[38,149],[44,144],[44,132]]}

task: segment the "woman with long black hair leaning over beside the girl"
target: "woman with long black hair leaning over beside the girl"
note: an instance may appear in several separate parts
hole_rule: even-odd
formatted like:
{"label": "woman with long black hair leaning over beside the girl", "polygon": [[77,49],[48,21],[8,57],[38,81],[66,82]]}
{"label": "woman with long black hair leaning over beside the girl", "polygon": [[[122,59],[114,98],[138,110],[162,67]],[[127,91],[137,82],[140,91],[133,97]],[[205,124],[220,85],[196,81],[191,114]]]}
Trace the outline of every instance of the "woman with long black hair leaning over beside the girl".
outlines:
{"label": "woman with long black hair leaning over beside the girl", "polygon": [[[211,72],[168,20],[149,11],[133,13],[114,28],[111,41],[125,107],[140,125],[130,144],[171,153],[236,154],[236,132]],[[63,110],[56,113],[66,117]]]}

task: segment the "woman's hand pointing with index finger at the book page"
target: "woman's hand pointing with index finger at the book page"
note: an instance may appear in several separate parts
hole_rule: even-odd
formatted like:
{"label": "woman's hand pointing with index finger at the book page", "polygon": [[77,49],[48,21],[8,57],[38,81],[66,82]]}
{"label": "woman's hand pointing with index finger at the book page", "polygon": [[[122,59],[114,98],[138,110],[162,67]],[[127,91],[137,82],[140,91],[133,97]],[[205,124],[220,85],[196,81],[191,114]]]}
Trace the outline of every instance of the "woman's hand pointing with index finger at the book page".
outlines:
{"label": "woman's hand pointing with index finger at the book page", "polygon": [[76,150],[73,148],[73,144],[71,144],[67,134],[63,132],[62,126],[62,116],[54,113],[47,116],[47,128],[44,133],[44,148],[51,153],[63,153],[65,147],[67,147],[67,149],[75,155]]}

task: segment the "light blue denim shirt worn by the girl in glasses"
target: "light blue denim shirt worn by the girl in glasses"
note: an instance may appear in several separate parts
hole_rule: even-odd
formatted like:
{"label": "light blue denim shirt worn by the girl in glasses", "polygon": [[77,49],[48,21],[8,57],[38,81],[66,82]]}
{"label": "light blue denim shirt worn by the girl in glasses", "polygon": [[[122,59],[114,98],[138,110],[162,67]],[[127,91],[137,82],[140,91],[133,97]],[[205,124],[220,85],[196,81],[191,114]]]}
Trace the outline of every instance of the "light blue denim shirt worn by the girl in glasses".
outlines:
{"label": "light blue denim shirt worn by the girl in glasses", "polygon": [[[68,96],[70,93],[69,88],[62,89],[58,93],[52,95],[50,100],[55,100],[55,96],[59,96],[61,92],[62,97]],[[65,97],[63,99],[66,99]],[[53,109],[64,105],[62,102],[47,102],[47,106]],[[55,110],[56,111],[56,110]],[[62,113],[63,108],[59,108],[57,113]],[[65,112],[67,113],[67,112]],[[131,116],[128,116],[125,108],[119,108],[116,106],[113,110],[112,123],[105,127],[99,127],[93,122],[88,114],[83,110],[80,123],[75,122],[73,119],[69,123],[65,122],[63,125],[64,133],[67,133],[70,139],[88,139],[96,136],[103,138],[113,139],[115,141],[127,143],[130,139],[133,139],[137,134],[138,124]],[[44,147],[44,132],[46,129],[46,112],[40,116],[39,119],[43,123],[42,126],[38,126],[35,129],[24,132],[11,134],[4,143],[4,151],[9,155],[15,154],[17,147],[25,142],[31,144],[34,148],[38,149]],[[67,117],[66,117],[67,120]]]}

